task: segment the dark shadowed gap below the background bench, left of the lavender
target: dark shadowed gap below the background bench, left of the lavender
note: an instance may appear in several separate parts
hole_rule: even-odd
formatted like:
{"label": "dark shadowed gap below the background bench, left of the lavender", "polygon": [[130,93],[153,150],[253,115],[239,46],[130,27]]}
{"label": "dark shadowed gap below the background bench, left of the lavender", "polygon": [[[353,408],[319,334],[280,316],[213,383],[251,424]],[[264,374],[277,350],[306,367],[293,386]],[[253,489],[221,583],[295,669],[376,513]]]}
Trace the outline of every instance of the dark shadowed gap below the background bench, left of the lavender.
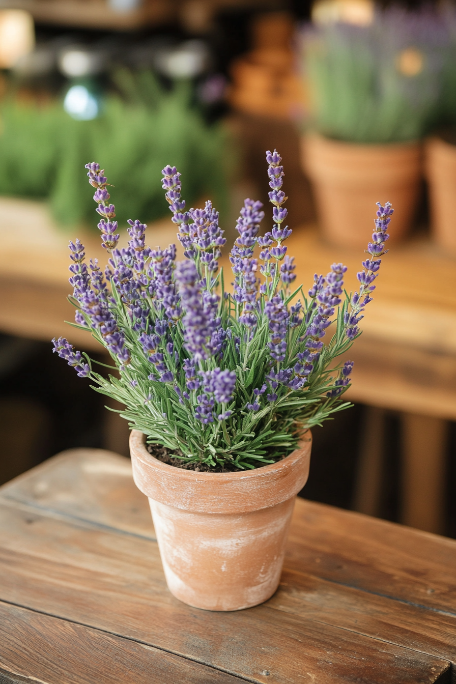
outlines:
{"label": "dark shadowed gap below the background bench, left of the lavender", "polygon": [[105,397],[51,342],[1,335],[0,373],[0,483],[63,449],[103,446]]}

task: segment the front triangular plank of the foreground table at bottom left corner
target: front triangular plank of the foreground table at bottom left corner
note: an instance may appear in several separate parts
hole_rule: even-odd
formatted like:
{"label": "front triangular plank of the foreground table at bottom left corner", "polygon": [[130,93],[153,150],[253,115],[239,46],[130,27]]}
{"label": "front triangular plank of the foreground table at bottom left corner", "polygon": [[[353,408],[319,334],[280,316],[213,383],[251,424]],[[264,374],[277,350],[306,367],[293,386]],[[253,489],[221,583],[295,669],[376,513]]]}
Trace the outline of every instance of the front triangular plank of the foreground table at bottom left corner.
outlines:
{"label": "front triangular plank of the foreground table at bottom left corner", "polygon": [[0,682],[46,684],[236,684],[236,676],[123,639],[0,602]]}

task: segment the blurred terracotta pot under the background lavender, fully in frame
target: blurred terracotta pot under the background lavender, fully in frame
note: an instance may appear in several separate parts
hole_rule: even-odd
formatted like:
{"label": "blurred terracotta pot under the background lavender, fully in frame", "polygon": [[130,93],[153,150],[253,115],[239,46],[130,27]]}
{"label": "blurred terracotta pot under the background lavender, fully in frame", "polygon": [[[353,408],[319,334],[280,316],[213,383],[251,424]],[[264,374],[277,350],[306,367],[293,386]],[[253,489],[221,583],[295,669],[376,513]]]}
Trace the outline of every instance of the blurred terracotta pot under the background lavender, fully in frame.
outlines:
{"label": "blurred terracotta pot under the background lavender, fully in frame", "polygon": [[302,139],[302,163],[314,186],[323,237],[337,246],[365,248],[375,202],[391,202],[398,242],[412,224],[420,188],[419,142],[359,145],[320,135]]}

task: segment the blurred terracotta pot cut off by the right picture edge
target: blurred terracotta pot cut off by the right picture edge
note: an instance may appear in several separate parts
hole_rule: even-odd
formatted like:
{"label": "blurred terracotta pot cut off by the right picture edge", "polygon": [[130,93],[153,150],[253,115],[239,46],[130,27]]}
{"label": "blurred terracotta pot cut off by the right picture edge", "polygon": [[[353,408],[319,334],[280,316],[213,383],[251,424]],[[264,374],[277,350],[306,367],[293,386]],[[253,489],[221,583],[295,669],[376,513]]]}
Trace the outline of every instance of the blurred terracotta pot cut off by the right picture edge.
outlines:
{"label": "blurred terracotta pot cut off by the right picture edge", "polygon": [[431,137],[425,145],[425,172],[435,242],[456,253],[456,145]]}

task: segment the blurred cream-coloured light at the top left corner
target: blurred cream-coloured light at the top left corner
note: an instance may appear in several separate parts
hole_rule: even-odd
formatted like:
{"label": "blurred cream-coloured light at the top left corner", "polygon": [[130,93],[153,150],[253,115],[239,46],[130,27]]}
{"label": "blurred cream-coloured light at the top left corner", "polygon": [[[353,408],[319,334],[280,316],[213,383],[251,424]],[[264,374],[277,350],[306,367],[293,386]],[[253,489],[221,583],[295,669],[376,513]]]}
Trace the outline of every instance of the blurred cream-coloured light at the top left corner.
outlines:
{"label": "blurred cream-coloured light at the top left corner", "polygon": [[0,68],[10,69],[35,47],[33,18],[24,10],[0,10]]}

